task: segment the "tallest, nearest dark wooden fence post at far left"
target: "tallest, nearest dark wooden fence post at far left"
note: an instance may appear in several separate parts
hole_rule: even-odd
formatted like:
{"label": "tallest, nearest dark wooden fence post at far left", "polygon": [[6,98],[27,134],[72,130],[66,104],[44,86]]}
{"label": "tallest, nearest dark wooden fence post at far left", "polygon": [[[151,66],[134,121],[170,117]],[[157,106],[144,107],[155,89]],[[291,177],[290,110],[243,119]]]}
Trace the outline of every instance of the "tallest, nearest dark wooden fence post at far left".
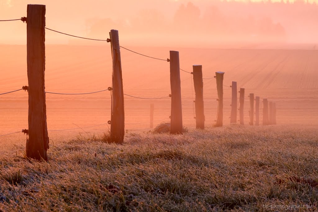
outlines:
{"label": "tallest, nearest dark wooden fence post at far left", "polygon": [[27,72],[29,93],[29,139],[26,157],[47,161],[49,137],[45,104],[45,5],[27,6]]}

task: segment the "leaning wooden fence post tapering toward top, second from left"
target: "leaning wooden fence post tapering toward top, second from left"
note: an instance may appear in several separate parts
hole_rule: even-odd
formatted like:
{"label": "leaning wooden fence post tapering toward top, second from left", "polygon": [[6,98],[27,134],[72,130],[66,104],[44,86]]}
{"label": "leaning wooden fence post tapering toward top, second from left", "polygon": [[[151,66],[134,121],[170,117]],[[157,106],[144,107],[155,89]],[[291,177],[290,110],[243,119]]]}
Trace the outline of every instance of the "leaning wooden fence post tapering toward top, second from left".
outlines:
{"label": "leaning wooden fence post tapering toward top, second from left", "polygon": [[111,142],[123,143],[125,135],[125,111],[124,91],[122,85],[121,56],[119,47],[119,35],[117,30],[109,32],[111,52],[113,59],[113,80],[112,80],[112,113],[110,125]]}

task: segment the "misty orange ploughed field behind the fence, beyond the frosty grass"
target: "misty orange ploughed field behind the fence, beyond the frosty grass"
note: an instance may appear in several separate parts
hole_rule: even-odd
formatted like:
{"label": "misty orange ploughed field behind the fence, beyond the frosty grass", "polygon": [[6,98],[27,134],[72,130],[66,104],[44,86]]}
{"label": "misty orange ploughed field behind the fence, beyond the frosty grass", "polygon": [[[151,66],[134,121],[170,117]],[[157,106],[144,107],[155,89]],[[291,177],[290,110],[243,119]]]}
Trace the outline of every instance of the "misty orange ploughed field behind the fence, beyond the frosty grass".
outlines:
{"label": "misty orange ploughed field behind the fence, beyond the frosty grass", "polygon": [[[248,124],[249,93],[277,103],[280,125],[317,127],[318,119],[318,51],[274,49],[191,49],[127,46],[158,58],[169,58],[169,50],[180,51],[180,67],[192,70],[202,64],[204,78],[224,71],[224,85],[238,82],[245,88],[245,124]],[[27,85],[26,46],[1,46],[0,93]],[[169,63],[142,57],[121,49],[124,93],[139,97],[163,97],[170,94]],[[47,45],[45,88],[49,92],[93,92],[111,86],[110,46]],[[189,73],[181,72],[182,103],[194,99]],[[193,94],[192,94],[193,92]],[[204,80],[204,102],[217,99],[215,79]],[[110,120],[110,93],[90,95],[47,94],[49,130],[87,127]],[[155,103],[154,120],[169,120],[170,99],[147,100],[125,96],[125,128],[148,131],[150,103]],[[224,87],[224,123],[229,124],[231,88]],[[217,103],[205,105],[206,126],[216,119]],[[0,96],[0,134],[27,128],[27,93],[19,91]],[[183,124],[194,128],[193,106],[183,106]],[[160,121],[155,122],[155,125]],[[100,133],[109,126],[87,128]],[[79,131],[62,131],[59,135],[76,135]],[[83,132],[83,131],[81,131]],[[55,133],[51,133],[55,134]],[[21,138],[24,136],[21,135]],[[0,137],[0,142],[2,138]]]}

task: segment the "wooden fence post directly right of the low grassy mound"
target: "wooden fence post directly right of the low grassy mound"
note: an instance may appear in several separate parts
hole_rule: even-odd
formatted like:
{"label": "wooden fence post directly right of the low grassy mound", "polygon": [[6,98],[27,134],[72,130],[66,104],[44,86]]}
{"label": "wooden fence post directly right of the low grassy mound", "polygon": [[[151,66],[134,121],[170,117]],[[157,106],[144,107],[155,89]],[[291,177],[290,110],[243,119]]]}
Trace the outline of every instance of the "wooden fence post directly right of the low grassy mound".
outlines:
{"label": "wooden fence post directly right of the low grassy mound", "polygon": [[171,122],[170,134],[181,134],[182,105],[179,51],[170,51]]}

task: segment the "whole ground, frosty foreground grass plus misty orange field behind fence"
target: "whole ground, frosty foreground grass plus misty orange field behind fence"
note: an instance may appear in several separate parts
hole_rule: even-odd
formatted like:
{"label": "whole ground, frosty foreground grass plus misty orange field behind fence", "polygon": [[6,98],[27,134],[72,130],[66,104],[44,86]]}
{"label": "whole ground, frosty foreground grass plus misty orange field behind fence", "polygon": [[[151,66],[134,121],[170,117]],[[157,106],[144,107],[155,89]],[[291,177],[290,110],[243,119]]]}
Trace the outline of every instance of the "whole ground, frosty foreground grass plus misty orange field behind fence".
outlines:
{"label": "whole ground, frosty foreground grass plus misty orange field behind fence", "polygon": [[[267,211],[317,207],[318,51],[134,47],[180,67],[202,64],[204,78],[224,71],[224,127],[214,128],[217,103],[204,105],[206,130],[195,130],[192,76],[181,72],[183,135],[149,133],[169,120],[170,99],[125,96],[124,145],[102,142],[110,93],[46,94],[49,163],[25,161],[23,133],[0,137],[1,211]],[[26,47],[0,46],[0,93],[27,85]],[[170,94],[169,63],[121,50],[124,93]],[[47,45],[45,89],[93,92],[111,86],[109,45]],[[231,81],[245,88],[245,126],[230,125]],[[273,100],[277,126],[248,124],[248,94]],[[215,79],[204,80],[204,102],[217,99]],[[0,135],[27,128],[27,93],[0,96]],[[260,111],[260,121],[262,111]],[[79,134],[80,133],[80,134]],[[267,207],[267,208],[266,208]],[[275,208],[276,207],[276,208]]]}

